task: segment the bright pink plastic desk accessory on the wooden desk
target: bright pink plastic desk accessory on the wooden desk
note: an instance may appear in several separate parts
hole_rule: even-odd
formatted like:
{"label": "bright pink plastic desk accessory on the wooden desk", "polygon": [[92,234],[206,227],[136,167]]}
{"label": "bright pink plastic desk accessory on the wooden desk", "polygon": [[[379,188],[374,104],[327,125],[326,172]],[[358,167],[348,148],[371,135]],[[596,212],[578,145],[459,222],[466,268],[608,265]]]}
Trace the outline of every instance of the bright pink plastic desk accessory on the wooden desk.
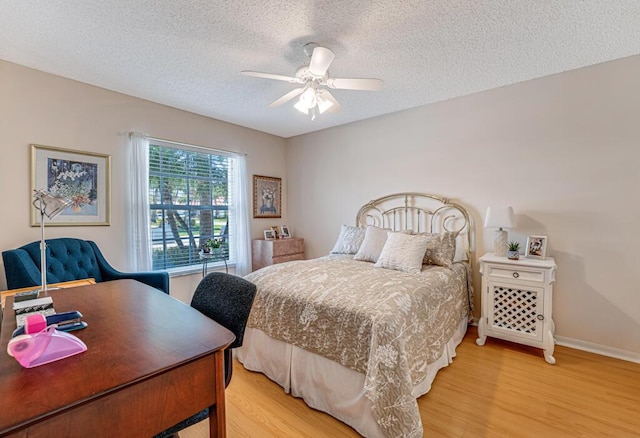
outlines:
{"label": "bright pink plastic desk accessory on the wooden desk", "polygon": [[[41,317],[37,314],[28,316],[25,327],[41,327]],[[25,368],[44,365],[83,351],[87,351],[87,346],[76,336],[46,325],[37,333],[16,336],[7,345],[9,356]]]}

